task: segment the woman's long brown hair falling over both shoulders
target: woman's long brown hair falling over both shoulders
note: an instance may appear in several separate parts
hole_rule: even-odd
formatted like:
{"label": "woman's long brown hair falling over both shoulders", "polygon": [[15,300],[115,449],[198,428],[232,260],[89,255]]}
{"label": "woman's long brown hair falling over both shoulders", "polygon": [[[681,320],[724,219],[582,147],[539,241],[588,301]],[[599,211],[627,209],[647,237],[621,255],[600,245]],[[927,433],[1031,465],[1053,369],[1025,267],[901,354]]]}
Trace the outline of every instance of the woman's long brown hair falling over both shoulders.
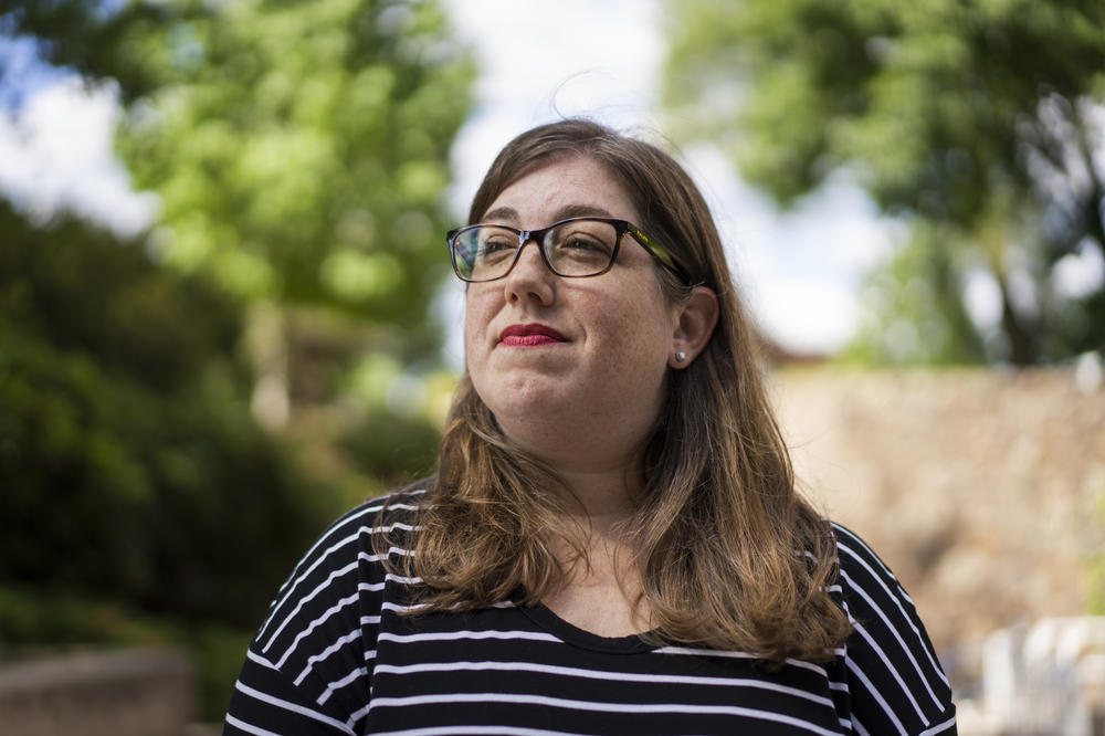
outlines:
{"label": "woman's long brown hair falling over both shoulders", "polygon": [[[656,632],[777,662],[831,658],[850,632],[828,591],[836,576],[832,530],[796,491],[757,336],[709,209],[683,168],[589,120],[543,125],[498,155],[469,222],[535,166],[570,156],[606,167],[643,218],[634,224],[690,272],[692,284],[681,284],[657,266],[666,298],[686,299],[697,284],[718,296],[709,343],[670,371],[644,453],[644,491],[624,528]],[[564,491],[554,469],[506,438],[465,374],[420,505],[413,555],[402,562],[425,583],[421,610],[534,604],[554,592],[566,574],[556,537],[583,554]]]}

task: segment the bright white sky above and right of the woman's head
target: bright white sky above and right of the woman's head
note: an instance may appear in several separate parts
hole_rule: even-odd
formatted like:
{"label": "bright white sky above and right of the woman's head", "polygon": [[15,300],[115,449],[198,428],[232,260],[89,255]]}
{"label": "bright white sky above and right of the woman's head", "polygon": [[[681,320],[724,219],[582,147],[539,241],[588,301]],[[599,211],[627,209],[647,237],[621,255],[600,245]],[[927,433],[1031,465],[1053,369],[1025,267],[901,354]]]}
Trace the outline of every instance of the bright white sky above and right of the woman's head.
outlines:
{"label": "bright white sky above and right of the woman's head", "polygon": [[[453,149],[459,176],[450,201],[459,217],[498,149],[534,125],[585,115],[666,139],[659,109],[666,41],[655,0],[445,7],[481,66],[475,108]],[[676,155],[711,204],[764,332],[799,353],[841,348],[861,318],[862,274],[888,254],[901,225],[881,219],[842,176],[781,213],[708,143]]]}

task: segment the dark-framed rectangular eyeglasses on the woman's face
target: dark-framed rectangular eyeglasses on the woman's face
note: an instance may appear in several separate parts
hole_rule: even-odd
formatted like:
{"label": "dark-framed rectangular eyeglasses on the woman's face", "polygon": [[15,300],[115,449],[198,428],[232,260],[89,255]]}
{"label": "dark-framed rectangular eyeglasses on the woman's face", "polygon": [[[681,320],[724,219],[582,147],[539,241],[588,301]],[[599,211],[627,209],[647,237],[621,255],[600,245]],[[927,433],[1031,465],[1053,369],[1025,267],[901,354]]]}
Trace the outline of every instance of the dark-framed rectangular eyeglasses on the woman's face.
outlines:
{"label": "dark-framed rectangular eyeglasses on the woman's face", "polygon": [[450,230],[445,238],[453,260],[453,271],[461,281],[484,282],[511,273],[522,249],[533,241],[548,270],[558,276],[582,278],[610,270],[622,236],[629,233],[684,283],[691,278],[667,250],[625,220],[613,218],[571,218],[540,230],[518,230],[501,224],[474,224]]}

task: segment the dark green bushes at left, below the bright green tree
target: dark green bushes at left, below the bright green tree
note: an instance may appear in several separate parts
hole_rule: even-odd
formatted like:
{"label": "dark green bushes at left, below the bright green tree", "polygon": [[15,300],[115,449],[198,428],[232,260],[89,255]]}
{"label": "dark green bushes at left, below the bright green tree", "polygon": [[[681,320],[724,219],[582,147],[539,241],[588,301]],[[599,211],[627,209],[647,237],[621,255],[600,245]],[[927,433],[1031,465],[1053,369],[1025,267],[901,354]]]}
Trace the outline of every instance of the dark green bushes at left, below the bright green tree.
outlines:
{"label": "dark green bushes at left, below the bright green tree", "polygon": [[0,579],[255,623],[344,500],[254,424],[233,302],[74,221],[0,219]]}

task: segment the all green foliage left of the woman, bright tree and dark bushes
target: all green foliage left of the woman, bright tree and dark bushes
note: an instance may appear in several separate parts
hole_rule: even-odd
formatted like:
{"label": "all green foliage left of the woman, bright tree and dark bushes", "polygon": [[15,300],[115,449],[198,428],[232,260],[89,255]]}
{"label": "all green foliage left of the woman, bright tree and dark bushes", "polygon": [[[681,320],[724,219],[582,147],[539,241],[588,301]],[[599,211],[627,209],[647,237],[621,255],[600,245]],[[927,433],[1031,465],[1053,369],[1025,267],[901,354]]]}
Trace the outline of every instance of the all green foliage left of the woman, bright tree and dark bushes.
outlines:
{"label": "all green foliage left of the woman, bright tree and dark bushes", "polygon": [[434,454],[348,372],[436,360],[473,65],[433,0],[0,0],[0,36],[118,90],[161,202],[125,243],[0,203],[0,642],[183,643],[217,719],[303,550]]}

